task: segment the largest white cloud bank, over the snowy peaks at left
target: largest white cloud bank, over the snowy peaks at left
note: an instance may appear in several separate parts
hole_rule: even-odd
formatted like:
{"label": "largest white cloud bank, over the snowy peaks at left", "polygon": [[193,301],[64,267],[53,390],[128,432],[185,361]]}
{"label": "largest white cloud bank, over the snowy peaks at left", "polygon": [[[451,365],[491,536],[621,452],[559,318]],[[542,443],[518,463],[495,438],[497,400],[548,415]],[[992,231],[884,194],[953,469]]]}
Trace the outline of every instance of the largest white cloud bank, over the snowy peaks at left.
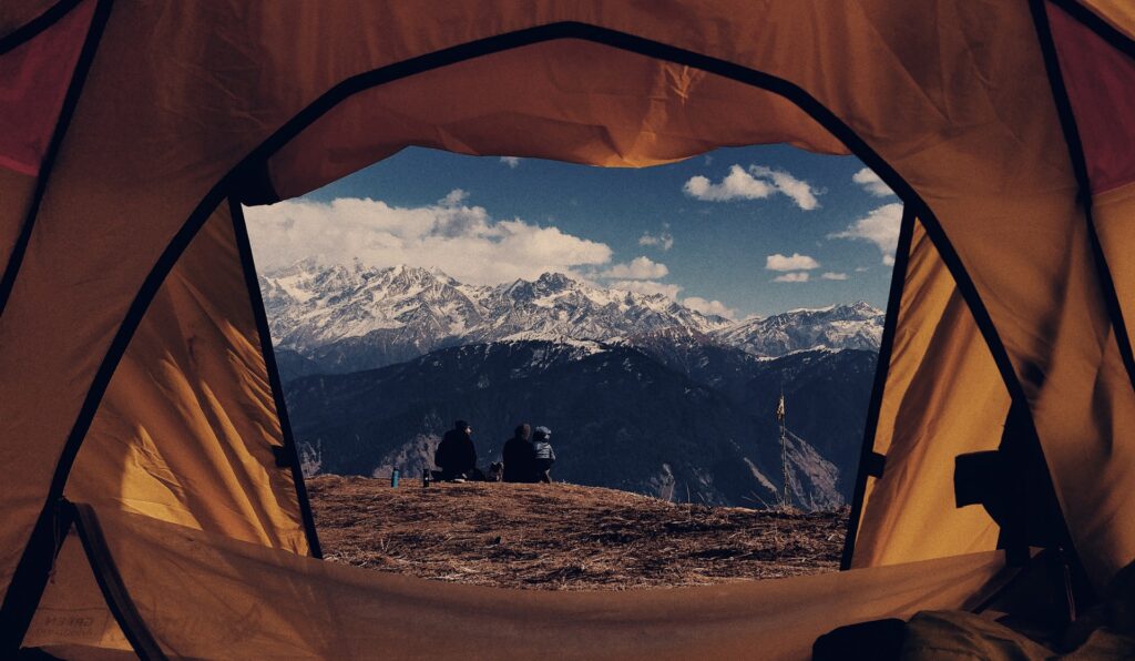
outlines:
{"label": "largest white cloud bank, over the snowy peaks at left", "polygon": [[436,204],[392,207],[369,198],[287,200],[245,209],[257,265],[264,270],[308,257],[333,263],[439,267],[470,284],[533,279],[611,262],[608,245],[522,219],[496,220],[454,190]]}

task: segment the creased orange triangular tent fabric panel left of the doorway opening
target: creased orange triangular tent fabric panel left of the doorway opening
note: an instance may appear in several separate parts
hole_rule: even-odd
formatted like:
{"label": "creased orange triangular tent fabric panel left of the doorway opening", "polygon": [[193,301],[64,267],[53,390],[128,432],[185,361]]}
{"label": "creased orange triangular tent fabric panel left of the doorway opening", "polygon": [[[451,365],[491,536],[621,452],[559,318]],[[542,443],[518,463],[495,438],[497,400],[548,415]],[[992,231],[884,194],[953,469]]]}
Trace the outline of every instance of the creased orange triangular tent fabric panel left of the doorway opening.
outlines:
{"label": "creased orange triangular tent fabric panel left of the doorway opening", "polygon": [[308,554],[238,252],[224,206],[150,304],[64,494]]}

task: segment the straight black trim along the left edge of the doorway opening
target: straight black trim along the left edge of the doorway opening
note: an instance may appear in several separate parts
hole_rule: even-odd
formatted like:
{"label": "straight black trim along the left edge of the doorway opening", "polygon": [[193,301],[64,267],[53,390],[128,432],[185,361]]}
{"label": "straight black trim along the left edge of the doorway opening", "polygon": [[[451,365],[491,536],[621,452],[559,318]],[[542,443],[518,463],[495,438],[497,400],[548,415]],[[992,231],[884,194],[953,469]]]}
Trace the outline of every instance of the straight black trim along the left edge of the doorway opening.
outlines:
{"label": "straight black trim along the left edge of the doorway opening", "polygon": [[276,365],[276,352],[272,350],[271,330],[268,328],[268,315],[264,312],[264,301],[260,293],[260,283],[257,279],[257,265],[252,258],[252,244],[249,242],[249,227],[244,221],[244,211],[241,203],[234,198],[228,199],[229,211],[233,216],[233,229],[236,234],[236,245],[241,253],[241,269],[244,271],[244,283],[249,288],[249,302],[252,306],[252,313],[257,319],[257,334],[260,336],[260,353],[264,357],[264,367],[268,369],[268,383],[272,388],[272,400],[276,403],[276,416],[279,418],[280,432],[284,436],[283,452],[292,469],[292,482],[295,485],[295,493],[300,501],[300,517],[303,519],[303,529],[308,536],[308,546],[311,554],[322,558],[323,552],[319,545],[319,535],[316,533],[316,519],[311,513],[311,501],[308,499],[308,486],[303,482],[303,468],[300,465],[300,451],[295,444],[295,435],[292,433],[292,420],[287,415],[287,402],[284,401],[284,385],[280,380],[279,367]]}

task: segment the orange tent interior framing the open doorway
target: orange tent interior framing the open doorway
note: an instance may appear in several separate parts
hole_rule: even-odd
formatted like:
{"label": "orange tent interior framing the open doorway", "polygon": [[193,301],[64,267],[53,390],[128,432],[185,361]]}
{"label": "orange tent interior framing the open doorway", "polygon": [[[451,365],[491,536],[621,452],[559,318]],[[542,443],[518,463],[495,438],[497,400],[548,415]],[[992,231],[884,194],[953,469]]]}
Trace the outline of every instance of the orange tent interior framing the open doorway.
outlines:
{"label": "orange tent interior framing the open doorway", "polygon": [[[1098,589],[1135,560],[1125,0],[9,0],[0,99],[6,652],[800,658],[977,608],[1028,547]],[[319,560],[242,204],[407,145],[773,142],[905,202],[848,571],[558,595]]]}

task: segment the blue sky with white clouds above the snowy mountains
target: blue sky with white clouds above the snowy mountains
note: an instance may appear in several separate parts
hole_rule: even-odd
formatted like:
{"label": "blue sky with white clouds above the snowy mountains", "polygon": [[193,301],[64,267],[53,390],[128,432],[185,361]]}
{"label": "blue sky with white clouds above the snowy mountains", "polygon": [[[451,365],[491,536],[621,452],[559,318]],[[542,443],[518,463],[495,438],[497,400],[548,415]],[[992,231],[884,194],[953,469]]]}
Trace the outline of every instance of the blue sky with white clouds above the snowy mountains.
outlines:
{"label": "blue sky with white clouds above the snowy mountains", "polygon": [[857,159],[783,145],[644,169],[407,149],[246,214],[262,271],[306,257],[477,284],[562,271],[743,318],[882,308],[901,206]]}

